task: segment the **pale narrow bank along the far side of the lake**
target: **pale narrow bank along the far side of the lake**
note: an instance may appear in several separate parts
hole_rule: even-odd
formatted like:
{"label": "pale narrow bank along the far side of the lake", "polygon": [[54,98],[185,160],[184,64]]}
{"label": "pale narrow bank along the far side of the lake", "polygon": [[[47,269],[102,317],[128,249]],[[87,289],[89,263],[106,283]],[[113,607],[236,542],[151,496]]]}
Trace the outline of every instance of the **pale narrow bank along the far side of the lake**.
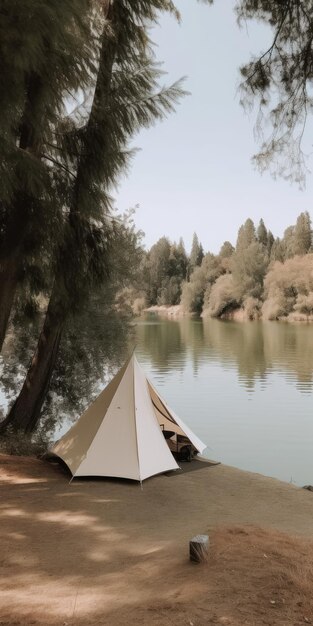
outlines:
{"label": "pale narrow bank along the far side of the lake", "polygon": [[[158,315],[161,315],[163,317],[175,318],[175,319],[180,319],[183,317],[191,318],[191,317],[196,316],[196,313],[186,313],[186,311],[183,311],[183,308],[180,304],[153,305],[153,306],[146,307],[145,309],[143,309],[143,312],[144,313],[158,313]],[[200,317],[202,319],[209,318],[209,316],[206,315],[205,313],[201,313]],[[218,318],[211,318],[211,319],[233,320],[235,322],[255,321],[251,319],[251,317],[249,317],[249,315],[244,309],[235,309],[233,311],[230,311],[229,313],[223,313]],[[303,313],[290,313],[287,317],[286,316],[277,317],[276,320],[263,320],[262,316],[260,315],[257,318],[257,320],[261,322],[262,321],[277,321],[277,322],[288,322],[288,323],[294,323],[294,322],[308,323],[308,322],[313,322],[313,315],[304,315]]]}

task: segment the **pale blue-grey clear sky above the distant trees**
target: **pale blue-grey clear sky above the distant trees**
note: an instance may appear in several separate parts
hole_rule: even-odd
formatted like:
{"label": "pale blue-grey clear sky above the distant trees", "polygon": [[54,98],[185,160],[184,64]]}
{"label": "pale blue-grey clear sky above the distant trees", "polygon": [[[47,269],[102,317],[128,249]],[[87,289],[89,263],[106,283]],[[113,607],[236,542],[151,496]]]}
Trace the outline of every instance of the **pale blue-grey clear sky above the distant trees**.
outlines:
{"label": "pale blue-grey clear sky above the distant trees", "polygon": [[[270,29],[256,23],[240,29],[233,0],[176,4],[181,24],[162,16],[151,38],[168,73],[164,82],[186,76],[190,95],[176,113],[135,137],[132,145],[140,150],[115,193],[118,209],[138,205],[135,223],[146,248],[166,235],[171,241],[182,237],[189,251],[196,232],[204,250],[217,253],[225,240],[235,243],[248,217],[256,225],[262,217],[274,236],[282,236],[301,211],[313,217],[312,176],[301,191],[255,169],[256,111],[245,113],[238,94],[238,68],[266,49]],[[311,157],[308,164],[313,171]]]}

